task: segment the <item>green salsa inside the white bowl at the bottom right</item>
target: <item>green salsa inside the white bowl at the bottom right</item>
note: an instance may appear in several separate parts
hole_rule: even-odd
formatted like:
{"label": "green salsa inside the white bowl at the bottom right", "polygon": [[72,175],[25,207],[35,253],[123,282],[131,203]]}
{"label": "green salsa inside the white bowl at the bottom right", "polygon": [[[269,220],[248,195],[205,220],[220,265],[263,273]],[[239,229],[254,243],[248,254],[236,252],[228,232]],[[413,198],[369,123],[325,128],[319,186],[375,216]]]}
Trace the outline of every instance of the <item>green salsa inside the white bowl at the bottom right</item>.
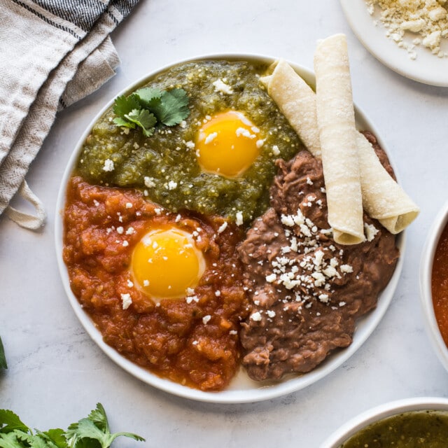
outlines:
{"label": "green salsa inside the white bowl at the bottom right", "polygon": [[413,411],[363,428],[339,448],[446,448],[448,412]]}

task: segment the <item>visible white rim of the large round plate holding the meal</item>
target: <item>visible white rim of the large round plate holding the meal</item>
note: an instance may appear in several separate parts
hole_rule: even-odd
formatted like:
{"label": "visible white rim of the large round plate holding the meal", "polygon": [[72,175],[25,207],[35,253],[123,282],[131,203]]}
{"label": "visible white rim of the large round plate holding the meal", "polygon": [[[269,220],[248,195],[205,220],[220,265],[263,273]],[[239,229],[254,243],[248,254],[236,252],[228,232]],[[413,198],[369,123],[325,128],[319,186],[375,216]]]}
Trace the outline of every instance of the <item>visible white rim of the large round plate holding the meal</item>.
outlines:
{"label": "visible white rim of the large round plate holding the meal", "polygon": [[[197,60],[197,59],[225,59],[225,60],[249,60],[249,61],[253,60],[267,63],[271,63],[274,61],[272,57],[265,57],[258,55],[209,55],[189,60]],[[186,61],[176,62],[176,64],[180,64],[182,62]],[[160,69],[159,71],[150,73],[144,79],[138,80],[137,83],[134,83],[130,87],[127,87],[127,89],[125,89],[123,92],[120,92],[120,94],[129,93],[131,90],[134,90],[134,88],[137,88],[138,86],[142,85],[142,83],[144,83],[145,80],[153,78],[161,71],[165,71],[169,69],[171,66],[176,64],[166,66]],[[308,83],[314,85],[314,75],[309,70],[304,69],[302,66],[298,66],[296,64],[291,65],[293,65],[297,73],[299,73],[300,76],[302,76],[305,80],[307,80]],[[355,353],[355,351],[363,344],[363,342],[365,342],[367,337],[369,337],[374,328],[378,325],[379,321],[386,312],[386,309],[392,300],[393,293],[397,286],[398,279],[400,278],[400,272],[402,270],[403,255],[405,250],[404,234],[398,237],[398,248],[400,249],[401,254],[400,260],[398,260],[398,264],[395,268],[395,272],[391,278],[391,281],[388,283],[388,286],[384,289],[384,291],[381,293],[379,297],[377,308],[358,321],[356,332],[353,336],[353,342],[349,347],[347,347],[346,349],[336,351],[331,356],[329,356],[323,363],[321,363],[321,365],[319,365],[316,369],[312,370],[307,374],[297,375],[294,377],[289,377],[288,379],[284,379],[283,381],[267,384],[265,382],[258,383],[252,381],[251,379],[248,378],[246,372],[244,372],[244,370],[241,369],[238,372],[235,379],[233,379],[233,381],[231,382],[230,386],[225,391],[203,392],[193,388],[189,388],[187,386],[182,386],[181,384],[176,384],[172,381],[169,381],[168,379],[163,379],[156,376],[155,374],[152,374],[143,367],[139,367],[139,365],[136,365],[130,362],[130,360],[127,360],[126,358],[121,356],[115,349],[113,349],[111,346],[107,345],[103,341],[101,333],[99,332],[99,330],[97,330],[94,323],[90,320],[90,317],[87,314],[85,314],[83,309],[80,307],[78,300],[76,299],[75,295],[73,295],[70,288],[69,276],[67,273],[66,266],[64,265],[64,261],[62,260],[62,246],[63,246],[62,210],[64,209],[64,202],[66,197],[66,185],[69,181],[71,173],[73,172],[73,167],[76,165],[76,161],[78,160],[78,155],[80,154],[80,151],[82,149],[83,142],[87,138],[87,135],[90,133],[90,130],[92,129],[94,123],[97,122],[97,120],[106,112],[107,109],[109,109],[109,107],[112,104],[113,99],[111,99],[104,106],[102,111],[98,113],[98,115],[94,118],[94,120],[92,120],[92,123],[90,123],[89,127],[87,127],[87,130],[85,130],[82,137],[80,137],[80,140],[78,141],[78,144],[76,145],[76,148],[74,149],[73,154],[71,155],[69,163],[64,172],[64,176],[62,178],[62,183],[59,189],[59,195],[57,199],[57,215],[55,218],[55,241],[56,241],[57,261],[59,264],[59,272],[62,277],[62,282],[64,283],[64,289],[66,290],[66,294],[69,297],[69,301],[71,303],[71,306],[73,307],[73,310],[76,313],[76,316],[78,316],[85,330],[88,332],[90,337],[92,337],[94,342],[96,342],[99,345],[99,347],[104,351],[104,353],[106,353],[118,365],[123,367],[123,369],[127,370],[127,372],[130,372],[130,374],[134,375],[134,377],[137,377],[142,381],[151,384],[151,386],[160,388],[162,389],[162,391],[167,391],[169,393],[173,393],[175,395],[179,395],[185,398],[191,398],[193,400],[200,400],[205,402],[220,402],[220,403],[255,402],[260,400],[267,400],[269,398],[275,398],[280,395],[285,395],[287,393],[297,391],[306,386],[309,386],[310,384],[313,384],[314,382],[318,381],[318,379],[325,377],[325,375],[335,370],[337,367],[339,367],[339,365],[344,363],[351,355],[353,355],[353,353]],[[384,141],[381,140],[379,133],[374,128],[372,123],[370,123],[370,121],[367,120],[365,115],[358,108],[355,109],[356,109],[356,123],[358,128],[360,130],[370,130],[377,137],[379,144],[382,146],[382,148],[384,148],[384,150],[387,153],[386,145],[384,144]],[[388,156],[390,158],[390,153],[388,153]],[[391,164],[395,169],[396,173],[396,168],[393,165],[392,160]]]}

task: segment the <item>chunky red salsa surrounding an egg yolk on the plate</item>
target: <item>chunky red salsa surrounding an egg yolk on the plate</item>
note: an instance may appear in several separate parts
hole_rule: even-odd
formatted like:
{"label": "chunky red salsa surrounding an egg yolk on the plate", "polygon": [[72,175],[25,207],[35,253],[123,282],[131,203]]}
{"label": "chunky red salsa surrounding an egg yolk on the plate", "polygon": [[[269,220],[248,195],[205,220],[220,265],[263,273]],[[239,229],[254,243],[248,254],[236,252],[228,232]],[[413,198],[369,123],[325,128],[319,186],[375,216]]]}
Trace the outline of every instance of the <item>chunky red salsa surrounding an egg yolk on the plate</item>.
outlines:
{"label": "chunky red salsa surrounding an egg yolk on the plate", "polygon": [[[81,307],[120,354],[151,372],[203,391],[228,386],[239,366],[239,322],[247,299],[236,245],[241,230],[221,217],[172,214],[136,190],[73,177],[64,211],[64,262]],[[193,232],[207,267],[194,295],[159,304],[130,274],[132,250],[151,227]],[[221,231],[221,232],[220,232]],[[175,273],[173,273],[175,275]],[[124,309],[123,295],[132,300]]]}

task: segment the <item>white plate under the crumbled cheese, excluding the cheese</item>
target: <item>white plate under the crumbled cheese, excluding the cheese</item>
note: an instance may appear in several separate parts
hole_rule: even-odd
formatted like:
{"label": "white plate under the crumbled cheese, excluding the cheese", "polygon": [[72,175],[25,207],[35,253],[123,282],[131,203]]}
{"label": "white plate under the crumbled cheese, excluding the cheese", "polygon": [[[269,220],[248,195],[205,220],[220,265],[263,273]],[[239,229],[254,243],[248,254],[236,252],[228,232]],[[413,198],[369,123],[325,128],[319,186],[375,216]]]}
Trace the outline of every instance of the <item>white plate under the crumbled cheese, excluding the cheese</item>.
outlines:
{"label": "white plate under the crumbled cheese, excluding the cheese", "polygon": [[[365,0],[340,0],[346,20],[360,42],[374,57],[389,69],[420,83],[448,87],[448,57],[437,57],[422,45],[416,47],[416,59],[410,59],[404,48],[387,38],[386,29],[379,22],[379,10],[374,15],[367,11]],[[378,20],[377,26],[374,20]],[[409,34],[409,43],[412,36]],[[407,36],[406,36],[407,37]],[[448,51],[446,39],[442,39],[442,48]]]}

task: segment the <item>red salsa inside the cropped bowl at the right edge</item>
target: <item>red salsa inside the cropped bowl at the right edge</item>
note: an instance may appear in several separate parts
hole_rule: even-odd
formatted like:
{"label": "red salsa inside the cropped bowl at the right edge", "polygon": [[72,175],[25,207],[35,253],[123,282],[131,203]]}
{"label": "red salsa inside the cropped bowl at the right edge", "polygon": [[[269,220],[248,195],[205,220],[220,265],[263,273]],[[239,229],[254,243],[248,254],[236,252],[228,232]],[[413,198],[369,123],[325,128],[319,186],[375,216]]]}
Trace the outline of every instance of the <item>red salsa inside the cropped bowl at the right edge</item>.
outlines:
{"label": "red salsa inside the cropped bowl at the right edge", "polygon": [[431,288],[435,318],[448,346],[448,225],[444,228],[435,250]]}

